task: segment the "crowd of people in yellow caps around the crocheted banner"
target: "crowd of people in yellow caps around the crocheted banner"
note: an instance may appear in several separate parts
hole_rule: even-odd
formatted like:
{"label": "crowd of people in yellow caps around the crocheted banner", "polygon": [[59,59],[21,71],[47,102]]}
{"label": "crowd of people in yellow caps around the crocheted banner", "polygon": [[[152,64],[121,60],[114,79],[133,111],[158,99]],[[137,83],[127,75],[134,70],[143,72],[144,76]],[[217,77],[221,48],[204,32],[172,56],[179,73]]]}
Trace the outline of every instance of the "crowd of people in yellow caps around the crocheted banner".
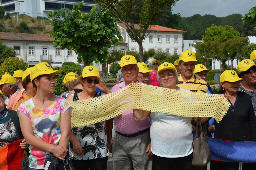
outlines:
{"label": "crowd of people in yellow caps around the crocheted banner", "polygon": [[[256,50],[250,59],[237,65],[238,75],[226,70],[220,76],[220,91],[216,94],[224,95],[231,104],[225,117],[219,123],[201,117],[201,123],[206,122],[209,134],[215,138],[256,141]],[[82,75],[65,76],[60,97],[52,92],[54,74],[62,70],[53,70],[46,62],[24,72],[17,70],[13,76],[6,73],[0,80],[0,147],[23,139],[20,147],[29,149],[29,170],[44,169],[50,153],[63,161],[71,159],[76,170],[107,170],[110,152],[116,170],[167,170],[175,166],[178,170],[205,169],[192,166],[196,117],[134,109],[113,119],[71,128],[69,102],[103,96],[131,83],[213,93],[206,83],[210,70],[196,65],[196,61],[195,53],[186,50],[174,64],[164,62],[158,66],[160,60],[151,60],[149,70],[145,63],[126,55],[120,60],[118,74],[122,76],[118,76],[119,83],[111,90],[100,78],[97,67],[86,66]],[[253,169],[253,163],[243,167]],[[235,170],[238,162],[211,161],[211,169]]]}

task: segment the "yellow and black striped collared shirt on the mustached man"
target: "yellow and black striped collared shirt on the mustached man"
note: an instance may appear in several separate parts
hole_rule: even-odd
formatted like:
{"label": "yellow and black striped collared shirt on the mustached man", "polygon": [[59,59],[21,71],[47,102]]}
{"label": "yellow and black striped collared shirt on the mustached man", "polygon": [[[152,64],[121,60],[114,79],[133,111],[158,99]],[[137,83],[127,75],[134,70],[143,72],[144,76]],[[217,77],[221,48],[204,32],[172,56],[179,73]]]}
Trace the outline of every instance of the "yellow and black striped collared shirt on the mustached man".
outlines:
{"label": "yellow and black striped collared shirt on the mustached man", "polygon": [[194,74],[188,81],[184,81],[180,74],[178,80],[179,81],[177,86],[181,87],[182,89],[201,93],[208,92],[207,83],[204,80],[197,78]]}

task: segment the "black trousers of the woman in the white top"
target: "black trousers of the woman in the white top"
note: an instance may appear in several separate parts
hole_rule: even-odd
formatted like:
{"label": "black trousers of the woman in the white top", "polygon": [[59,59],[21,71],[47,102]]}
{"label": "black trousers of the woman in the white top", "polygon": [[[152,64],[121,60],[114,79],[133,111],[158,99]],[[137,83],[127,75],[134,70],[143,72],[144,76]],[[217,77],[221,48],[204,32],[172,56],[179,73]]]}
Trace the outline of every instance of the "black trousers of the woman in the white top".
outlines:
{"label": "black trousers of the woman in the white top", "polygon": [[153,161],[156,163],[157,170],[173,170],[176,165],[178,170],[193,170],[192,166],[193,152],[185,157],[164,158],[153,155]]}

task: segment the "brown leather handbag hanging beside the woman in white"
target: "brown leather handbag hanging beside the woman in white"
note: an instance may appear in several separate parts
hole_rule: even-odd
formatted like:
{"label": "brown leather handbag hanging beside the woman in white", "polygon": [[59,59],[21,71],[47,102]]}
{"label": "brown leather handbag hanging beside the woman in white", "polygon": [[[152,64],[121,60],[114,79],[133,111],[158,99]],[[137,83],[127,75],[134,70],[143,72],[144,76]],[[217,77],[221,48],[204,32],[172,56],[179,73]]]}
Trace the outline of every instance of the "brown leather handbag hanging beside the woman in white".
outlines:
{"label": "brown leather handbag hanging beside the woman in white", "polygon": [[[198,127],[199,126],[199,127]],[[200,129],[199,129],[200,128]],[[193,142],[194,154],[192,159],[193,166],[205,166],[212,159],[208,145],[207,132],[202,129],[201,117],[198,117],[196,124],[196,137]]]}

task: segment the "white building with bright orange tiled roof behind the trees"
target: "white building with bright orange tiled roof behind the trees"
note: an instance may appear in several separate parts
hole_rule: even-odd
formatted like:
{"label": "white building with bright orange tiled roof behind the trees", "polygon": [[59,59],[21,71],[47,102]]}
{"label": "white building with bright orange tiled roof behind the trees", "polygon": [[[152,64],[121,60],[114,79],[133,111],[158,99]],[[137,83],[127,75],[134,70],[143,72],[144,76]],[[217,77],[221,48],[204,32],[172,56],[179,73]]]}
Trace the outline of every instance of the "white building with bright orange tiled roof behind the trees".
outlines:
{"label": "white building with bright orange tiled roof behind the trees", "polygon": [[[124,24],[117,23],[119,26],[119,32],[124,38],[126,46],[118,46],[116,49],[122,49],[123,51],[139,51],[139,45],[136,41],[133,41],[127,34],[127,27]],[[136,29],[139,29],[139,25],[135,25]],[[143,50],[149,49],[162,50],[166,53],[182,53],[183,51],[183,34],[186,31],[175,30],[159,25],[148,28],[149,35],[143,40]]]}

